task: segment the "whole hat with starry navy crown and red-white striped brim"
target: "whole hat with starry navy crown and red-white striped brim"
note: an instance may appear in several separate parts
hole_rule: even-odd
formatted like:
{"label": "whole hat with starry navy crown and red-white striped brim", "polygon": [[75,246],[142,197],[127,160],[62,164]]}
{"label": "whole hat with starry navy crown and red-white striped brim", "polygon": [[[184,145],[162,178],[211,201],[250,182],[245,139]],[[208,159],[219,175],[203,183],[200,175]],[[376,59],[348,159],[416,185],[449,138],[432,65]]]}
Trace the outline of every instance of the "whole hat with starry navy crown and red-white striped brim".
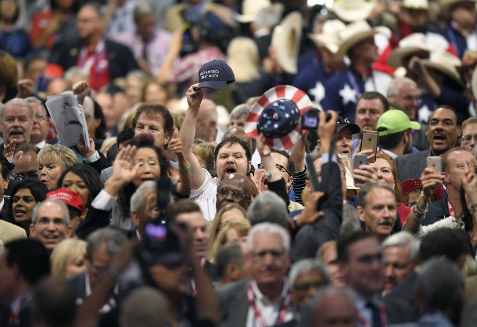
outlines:
{"label": "whole hat with starry navy crown and red-white striped brim", "polygon": [[301,137],[300,116],[313,107],[305,92],[290,85],[279,85],[265,92],[245,119],[248,137],[263,133],[265,143],[275,149],[289,149]]}

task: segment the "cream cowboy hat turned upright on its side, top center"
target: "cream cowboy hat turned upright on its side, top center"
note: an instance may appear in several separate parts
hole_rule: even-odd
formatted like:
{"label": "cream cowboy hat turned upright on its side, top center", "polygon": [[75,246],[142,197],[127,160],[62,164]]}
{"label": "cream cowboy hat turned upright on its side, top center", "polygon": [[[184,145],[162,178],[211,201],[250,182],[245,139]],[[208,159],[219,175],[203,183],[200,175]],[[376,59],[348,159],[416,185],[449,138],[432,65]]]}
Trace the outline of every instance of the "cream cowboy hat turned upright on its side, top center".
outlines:
{"label": "cream cowboy hat turned upright on its side, top center", "polygon": [[296,74],[298,71],[297,60],[302,38],[302,21],[300,12],[293,11],[273,30],[272,45],[275,47],[277,61],[283,70],[290,74]]}

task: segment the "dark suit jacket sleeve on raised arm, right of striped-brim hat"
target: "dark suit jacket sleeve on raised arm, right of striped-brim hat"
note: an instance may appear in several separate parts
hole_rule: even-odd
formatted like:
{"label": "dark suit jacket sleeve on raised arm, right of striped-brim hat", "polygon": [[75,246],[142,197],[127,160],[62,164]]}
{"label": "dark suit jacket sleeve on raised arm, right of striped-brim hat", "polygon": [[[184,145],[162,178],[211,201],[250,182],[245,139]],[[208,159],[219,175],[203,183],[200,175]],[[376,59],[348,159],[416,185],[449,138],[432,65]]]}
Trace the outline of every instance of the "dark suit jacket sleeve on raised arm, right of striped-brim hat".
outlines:
{"label": "dark suit jacket sleeve on raised arm, right of striped-brim hat", "polygon": [[329,166],[329,174],[321,175],[322,185],[333,185],[329,194],[325,195],[319,206],[324,216],[313,224],[307,224],[300,228],[293,240],[292,260],[314,258],[318,248],[326,241],[336,239],[341,225],[343,214],[343,195],[341,192],[341,178],[338,164],[328,162],[323,165],[321,171],[326,171]]}

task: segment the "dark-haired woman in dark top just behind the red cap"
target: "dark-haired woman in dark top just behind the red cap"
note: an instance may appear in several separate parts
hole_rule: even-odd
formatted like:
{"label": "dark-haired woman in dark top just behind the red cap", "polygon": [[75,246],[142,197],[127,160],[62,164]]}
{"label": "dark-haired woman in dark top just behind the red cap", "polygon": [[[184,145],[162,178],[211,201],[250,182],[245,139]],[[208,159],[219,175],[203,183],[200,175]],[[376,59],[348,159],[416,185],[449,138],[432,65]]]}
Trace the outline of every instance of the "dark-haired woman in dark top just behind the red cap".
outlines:
{"label": "dark-haired woman in dark top just behind the red cap", "polygon": [[86,164],[73,165],[61,174],[58,180],[58,188],[78,193],[84,208],[86,208],[76,230],[79,238],[85,239],[89,233],[109,224],[110,213],[91,206],[93,199],[103,188],[103,183],[101,183],[96,170]]}

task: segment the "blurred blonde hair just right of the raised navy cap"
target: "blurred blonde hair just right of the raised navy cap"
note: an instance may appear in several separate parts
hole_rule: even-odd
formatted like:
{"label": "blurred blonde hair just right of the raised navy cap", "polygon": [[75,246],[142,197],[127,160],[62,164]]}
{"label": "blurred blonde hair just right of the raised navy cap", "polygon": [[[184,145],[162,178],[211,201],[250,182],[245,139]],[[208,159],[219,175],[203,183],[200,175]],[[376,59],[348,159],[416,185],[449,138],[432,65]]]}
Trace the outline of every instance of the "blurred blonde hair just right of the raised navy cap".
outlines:
{"label": "blurred blonde hair just right of the raised navy cap", "polygon": [[252,39],[243,36],[232,39],[227,48],[227,56],[227,63],[237,82],[248,82],[260,77],[258,47]]}

